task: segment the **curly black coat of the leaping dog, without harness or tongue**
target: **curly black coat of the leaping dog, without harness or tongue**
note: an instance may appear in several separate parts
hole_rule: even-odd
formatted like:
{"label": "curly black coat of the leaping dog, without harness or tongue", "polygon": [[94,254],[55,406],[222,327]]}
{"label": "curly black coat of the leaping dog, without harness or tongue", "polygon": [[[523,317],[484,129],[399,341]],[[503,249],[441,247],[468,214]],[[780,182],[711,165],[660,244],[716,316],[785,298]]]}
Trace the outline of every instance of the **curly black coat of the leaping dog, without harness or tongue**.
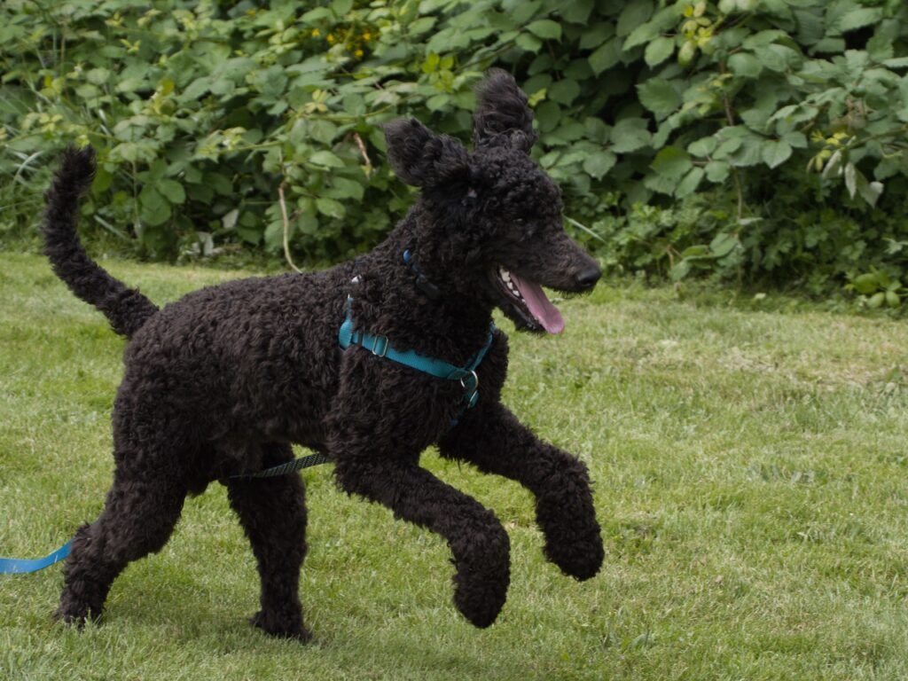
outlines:
{"label": "curly black coat of the leaping dog, without harness or tongue", "polygon": [[[603,548],[586,467],[499,401],[504,333],[495,332],[479,366],[479,404],[453,429],[463,397],[456,381],[337,341],[350,294],[360,329],[463,365],[486,341],[495,307],[518,328],[541,331],[538,313],[508,292],[502,268],[561,291],[596,283],[595,262],[562,229],[558,188],[527,155],[531,119],[513,78],[496,71],[479,87],[473,153],[417,121],[390,123],[390,162],[422,195],[387,241],[331,270],[232,281],[160,311],[85,254],[75,222],[94,154],[64,154],[48,192],[48,257],[131,340],[114,403],[114,484],[101,516],[74,539],[58,617],[100,615],[123,568],[166,543],[186,495],[220,480],[262,577],[253,623],[307,639],[297,594],[306,554],[301,479],[231,479],[291,459],[291,442],[330,457],[348,493],[445,538],[457,568],[455,604],[477,627],[504,605],[508,535],[479,502],[419,467],[433,443],[444,457],[530,489],[548,559],[577,579],[597,573]],[[414,266],[402,262],[405,250]],[[417,271],[436,295],[416,285]]]}

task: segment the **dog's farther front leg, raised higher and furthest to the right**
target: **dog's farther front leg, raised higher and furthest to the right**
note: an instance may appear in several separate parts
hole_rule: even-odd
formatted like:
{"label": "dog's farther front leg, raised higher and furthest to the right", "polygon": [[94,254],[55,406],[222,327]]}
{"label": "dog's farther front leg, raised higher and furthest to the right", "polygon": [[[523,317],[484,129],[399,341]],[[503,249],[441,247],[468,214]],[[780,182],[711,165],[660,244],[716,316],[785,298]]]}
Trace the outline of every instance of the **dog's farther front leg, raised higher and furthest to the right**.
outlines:
{"label": "dog's farther front leg, raised higher and furthest to the right", "polygon": [[571,577],[596,575],[604,551],[582,461],[538,439],[498,402],[469,410],[439,450],[447,459],[468,461],[533,492],[546,557]]}

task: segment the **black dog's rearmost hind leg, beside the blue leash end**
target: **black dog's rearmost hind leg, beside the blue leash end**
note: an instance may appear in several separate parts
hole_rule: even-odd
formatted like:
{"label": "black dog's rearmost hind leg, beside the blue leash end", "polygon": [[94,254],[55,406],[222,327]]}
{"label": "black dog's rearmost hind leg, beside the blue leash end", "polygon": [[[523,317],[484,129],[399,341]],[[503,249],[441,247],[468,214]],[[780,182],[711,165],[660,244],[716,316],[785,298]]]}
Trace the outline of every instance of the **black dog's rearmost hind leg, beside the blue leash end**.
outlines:
{"label": "black dog's rearmost hind leg, beside the blue leash end", "polygon": [[180,518],[185,488],[163,469],[138,470],[134,460],[121,459],[101,515],[76,532],[55,614],[64,622],[81,625],[100,617],[117,575],[133,560],[161,550]]}

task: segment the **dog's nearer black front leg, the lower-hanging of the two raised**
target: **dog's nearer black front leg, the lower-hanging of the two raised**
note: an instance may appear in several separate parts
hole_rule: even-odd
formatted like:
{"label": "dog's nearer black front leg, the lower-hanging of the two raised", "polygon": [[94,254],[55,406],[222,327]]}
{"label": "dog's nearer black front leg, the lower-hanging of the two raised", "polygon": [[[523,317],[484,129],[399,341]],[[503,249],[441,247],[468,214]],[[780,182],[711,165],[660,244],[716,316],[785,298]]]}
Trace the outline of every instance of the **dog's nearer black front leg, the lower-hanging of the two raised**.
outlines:
{"label": "dog's nearer black front leg, the lower-hanging of the two raised", "polygon": [[474,625],[489,627],[504,605],[510,580],[510,544],[498,518],[415,463],[380,456],[334,455],[341,488],[447,539],[457,567],[454,603]]}

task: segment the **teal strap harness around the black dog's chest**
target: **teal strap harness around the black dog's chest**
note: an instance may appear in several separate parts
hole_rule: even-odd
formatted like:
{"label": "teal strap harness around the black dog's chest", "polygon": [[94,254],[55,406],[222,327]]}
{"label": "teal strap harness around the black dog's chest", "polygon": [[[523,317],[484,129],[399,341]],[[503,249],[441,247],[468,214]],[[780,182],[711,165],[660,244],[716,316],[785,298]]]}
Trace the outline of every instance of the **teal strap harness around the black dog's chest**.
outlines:
{"label": "teal strap harness around the black dog's chest", "polygon": [[[345,310],[347,311],[346,319],[341,324],[341,331],[338,333],[338,342],[343,350],[347,350],[351,345],[360,345],[366,350],[370,350],[373,355],[383,357],[386,360],[396,361],[399,364],[428,373],[438,379],[459,380],[463,387],[463,410],[468,410],[476,405],[479,400],[479,376],[476,370],[479,364],[486,357],[486,353],[492,345],[493,332],[495,331],[495,322],[489,324],[489,338],[486,344],[473,355],[467,366],[458,367],[449,364],[445,360],[437,360],[434,357],[420,355],[415,350],[397,350],[394,348],[388,336],[380,334],[370,334],[365,331],[356,330],[353,326],[353,317],[350,313],[350,307],[353,297],[347,296]],[[455,423],[457,420],[455,419]],[[453,424],[452,424],[453,425]]]}

